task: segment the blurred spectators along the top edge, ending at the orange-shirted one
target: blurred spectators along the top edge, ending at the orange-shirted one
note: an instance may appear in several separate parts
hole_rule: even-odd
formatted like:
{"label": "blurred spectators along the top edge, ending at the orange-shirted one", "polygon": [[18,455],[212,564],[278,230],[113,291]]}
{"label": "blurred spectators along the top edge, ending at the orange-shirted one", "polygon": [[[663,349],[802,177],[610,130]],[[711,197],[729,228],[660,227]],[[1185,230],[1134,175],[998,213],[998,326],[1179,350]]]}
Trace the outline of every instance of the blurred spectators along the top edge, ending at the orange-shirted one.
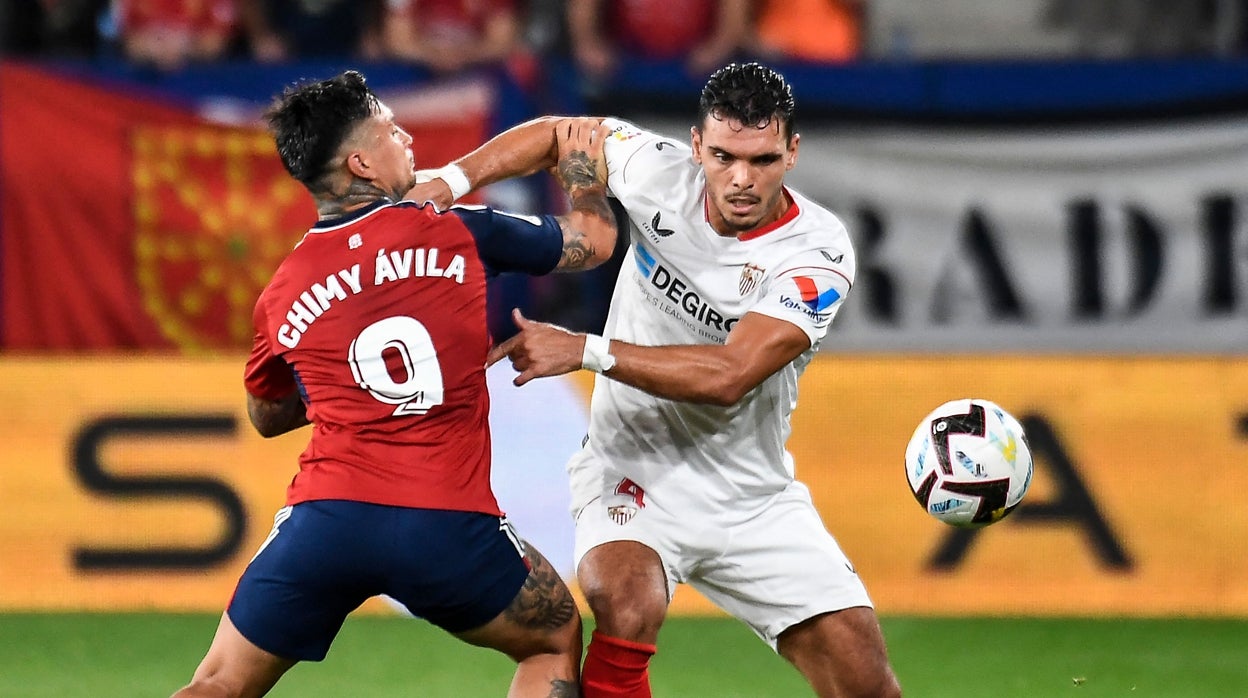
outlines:
{"label": "blurred spectators along the top edge, ending at the orange-shirted one", "polygon": [[[0,51],[121,56],[176,70],[215,60],[351,57],[437,72],[573,56],[593,80],[628,57],[704,76],[743,52],[857,55],[862,0],[7,0]],[[797,21],[801,17],[801,21]]]}

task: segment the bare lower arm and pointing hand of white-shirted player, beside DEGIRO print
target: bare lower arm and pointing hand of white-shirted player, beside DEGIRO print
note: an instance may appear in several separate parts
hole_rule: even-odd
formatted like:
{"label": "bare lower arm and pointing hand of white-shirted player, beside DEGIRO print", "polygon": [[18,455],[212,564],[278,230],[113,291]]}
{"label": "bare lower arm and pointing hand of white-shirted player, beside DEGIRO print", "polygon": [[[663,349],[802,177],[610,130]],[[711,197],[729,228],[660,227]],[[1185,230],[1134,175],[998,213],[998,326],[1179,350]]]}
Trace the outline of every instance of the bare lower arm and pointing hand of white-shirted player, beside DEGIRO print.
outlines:
{"label": "bare lower arm and pointing hand of white-shirted player, beside DEGIRO print", "polygon": [[[513,311],[520,331],[495,346],[487,363],[503,357],[520,372],[514,383],[559,376],[584,367],[585,335],[534,322]],[[810,337],[790,322],[745,313],[721,345],[646,347],[610,341],[615,365],[603,375],[679,402],[730,406],[810,348]]]}

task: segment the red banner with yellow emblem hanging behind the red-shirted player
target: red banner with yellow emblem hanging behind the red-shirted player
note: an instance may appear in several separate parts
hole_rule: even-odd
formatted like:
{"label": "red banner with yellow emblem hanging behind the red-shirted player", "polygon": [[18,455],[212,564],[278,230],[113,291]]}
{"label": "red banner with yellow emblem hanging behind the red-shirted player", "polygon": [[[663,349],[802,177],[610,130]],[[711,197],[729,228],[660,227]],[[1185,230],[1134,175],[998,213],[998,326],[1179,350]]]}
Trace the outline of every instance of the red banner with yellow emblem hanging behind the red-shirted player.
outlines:
{"label": "red banner with yellow emblem hanging behind the red-shirted player", "polygon": [[[246,348],[268,275],[316,219],[255,126],[0,65],[0,341],[16,351]],[[483,114],[404,122],[422,164]]]}

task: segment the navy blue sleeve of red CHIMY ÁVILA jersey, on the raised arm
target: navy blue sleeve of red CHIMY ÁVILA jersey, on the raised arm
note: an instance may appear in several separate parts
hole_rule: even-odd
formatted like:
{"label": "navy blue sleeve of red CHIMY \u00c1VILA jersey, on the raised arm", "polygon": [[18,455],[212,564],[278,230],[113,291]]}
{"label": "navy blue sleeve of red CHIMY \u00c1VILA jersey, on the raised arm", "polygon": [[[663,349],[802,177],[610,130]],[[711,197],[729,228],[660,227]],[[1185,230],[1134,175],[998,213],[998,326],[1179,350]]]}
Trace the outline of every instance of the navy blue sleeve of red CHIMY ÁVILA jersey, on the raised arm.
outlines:
{"label": "navy blue sleeve of red CHIMY \u00c1VILA jersey, on the raised arm", "polygon": [[554,216],[522,216],[488,206],[452,206],[472,236],[485,267],[494,272],[550,273],[563,257],[563,229]]}

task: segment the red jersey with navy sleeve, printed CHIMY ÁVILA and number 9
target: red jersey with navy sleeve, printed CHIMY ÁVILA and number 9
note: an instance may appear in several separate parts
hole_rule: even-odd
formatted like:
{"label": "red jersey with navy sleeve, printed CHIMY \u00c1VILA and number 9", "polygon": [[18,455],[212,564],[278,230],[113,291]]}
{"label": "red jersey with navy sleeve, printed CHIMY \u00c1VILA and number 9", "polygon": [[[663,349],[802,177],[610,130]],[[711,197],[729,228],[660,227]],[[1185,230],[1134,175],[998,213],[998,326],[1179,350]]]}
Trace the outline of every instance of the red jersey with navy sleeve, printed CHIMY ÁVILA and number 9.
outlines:
{"label": "red jersey with navy sleeve, printed CHIMY \u00c1VILA and number 9", "polygon": [[545,273],[550,216],[387,204],[317,224],[256,302],[245,385],[298,390],[312,437],[287,504],[351,499],[500,514],[489,484],[485,280]]}

